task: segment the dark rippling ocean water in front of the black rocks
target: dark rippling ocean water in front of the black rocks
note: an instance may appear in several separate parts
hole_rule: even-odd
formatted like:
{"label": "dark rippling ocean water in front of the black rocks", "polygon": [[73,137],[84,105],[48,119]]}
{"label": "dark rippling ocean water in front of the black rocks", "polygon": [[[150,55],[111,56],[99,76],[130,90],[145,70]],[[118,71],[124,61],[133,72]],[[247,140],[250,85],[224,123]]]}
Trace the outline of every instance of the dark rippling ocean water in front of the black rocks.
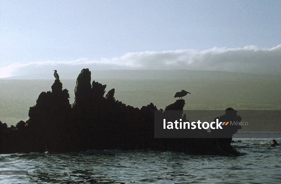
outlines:
{"label": "dark rippling ocean water in front of the black rocks", "polygon": [[[0,183],[281,183],[281,146],[273,138],[235,138],[239,157],[155,150],[1,154]],[[274,138],[281,142],[280,138]]]}

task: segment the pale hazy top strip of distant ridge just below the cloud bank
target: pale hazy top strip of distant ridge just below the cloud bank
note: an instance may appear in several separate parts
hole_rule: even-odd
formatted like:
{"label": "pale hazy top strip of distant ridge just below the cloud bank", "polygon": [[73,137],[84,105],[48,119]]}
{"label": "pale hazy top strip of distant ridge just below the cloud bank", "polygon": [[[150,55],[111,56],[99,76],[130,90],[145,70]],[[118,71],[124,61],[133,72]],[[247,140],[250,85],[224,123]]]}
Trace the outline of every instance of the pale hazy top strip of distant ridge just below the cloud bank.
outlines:
{"label": "pale hazy top strip of distant ridge just below the cloud bank", "polygon": [[[60,72],[60,79],[77,79],[77,72]],[[6,79],[53,79],[53,73],[19,75]],[[92,70],[92,79],[266,79],[281,80],[281,75],[207,70]]]}

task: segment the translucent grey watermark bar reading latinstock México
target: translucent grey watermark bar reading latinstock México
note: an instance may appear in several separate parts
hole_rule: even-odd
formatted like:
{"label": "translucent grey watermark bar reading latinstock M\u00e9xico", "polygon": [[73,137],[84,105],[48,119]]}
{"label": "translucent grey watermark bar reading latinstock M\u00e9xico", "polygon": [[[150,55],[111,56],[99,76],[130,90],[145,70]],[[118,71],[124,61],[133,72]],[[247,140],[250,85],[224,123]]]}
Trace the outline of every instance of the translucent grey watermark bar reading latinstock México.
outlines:
{"label": "translucent grey watermark bar reading latinstock M\u00e9xico", "polygon": [[154,111],[155,138],[267,138],[280,125],[281,110]]}

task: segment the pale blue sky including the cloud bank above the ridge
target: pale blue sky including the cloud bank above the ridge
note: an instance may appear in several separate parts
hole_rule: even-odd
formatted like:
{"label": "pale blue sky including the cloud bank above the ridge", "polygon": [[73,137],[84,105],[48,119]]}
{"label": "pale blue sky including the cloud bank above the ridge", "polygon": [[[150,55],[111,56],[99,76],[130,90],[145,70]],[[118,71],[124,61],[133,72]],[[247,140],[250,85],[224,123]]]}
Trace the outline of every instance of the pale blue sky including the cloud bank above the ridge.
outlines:
{"label": "pale blue sky including the cloud bank above the ridge", "polygon": [[83,68],[281,75],[281,1],[0,1],[0,78]]}

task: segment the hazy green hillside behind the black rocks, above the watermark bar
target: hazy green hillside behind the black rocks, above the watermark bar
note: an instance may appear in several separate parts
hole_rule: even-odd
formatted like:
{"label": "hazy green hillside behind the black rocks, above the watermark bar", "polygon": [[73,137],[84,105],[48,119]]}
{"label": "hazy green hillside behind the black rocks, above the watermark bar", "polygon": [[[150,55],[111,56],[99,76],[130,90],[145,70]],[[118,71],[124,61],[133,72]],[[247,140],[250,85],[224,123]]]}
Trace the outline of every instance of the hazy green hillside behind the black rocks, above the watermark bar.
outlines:
{"label": "hazy green hillside behind the black rocks, above the watermark bar", "polygon": [[[125,79],[120,79],[121,71],[115,71],[108,74],[111,77],[115,76],[115,79],[99,79],[97,75],[105,76],[103,72],[105,71],[93,71],[91,80],[106,84],[106,93],[115,88],[114,97],[134,107],[140,108],[153,102],[157,108],[165,108],[175,102],[175,93],[184,89],[192,93],[184,97],[184,110],[223,110],[228,107],[240,110],[281,109],[280,76],[248,73],[238,75],[231,72],[210,72],[207,75],[209,71],[170,70],[165,71],[165,74],[163,71],[138,71],[140,79],[135,79],[139,75],[133,76],[135,71],[126,71],[125,77],[123,76]],[[144,75],[145,72],[147,75]],[[160,78],[161,75],[167,76],[169,72],[174,75]],[[128,79],[129,74],[131,79]],[[76,79],[63,79],[63,75],[60,76],[63,89],[69,90],[69,101],[73,103]],[[176,79],[176,76],[179,79]],[[154,79],[144,79],[145,77]],[[42,91],[51,90],[53,81],[54,78],[0,80],[0,121],[8,126],[15,125],[20,120],[26,121],[29,118],[29,107],[36,104],[36,99]]]}

